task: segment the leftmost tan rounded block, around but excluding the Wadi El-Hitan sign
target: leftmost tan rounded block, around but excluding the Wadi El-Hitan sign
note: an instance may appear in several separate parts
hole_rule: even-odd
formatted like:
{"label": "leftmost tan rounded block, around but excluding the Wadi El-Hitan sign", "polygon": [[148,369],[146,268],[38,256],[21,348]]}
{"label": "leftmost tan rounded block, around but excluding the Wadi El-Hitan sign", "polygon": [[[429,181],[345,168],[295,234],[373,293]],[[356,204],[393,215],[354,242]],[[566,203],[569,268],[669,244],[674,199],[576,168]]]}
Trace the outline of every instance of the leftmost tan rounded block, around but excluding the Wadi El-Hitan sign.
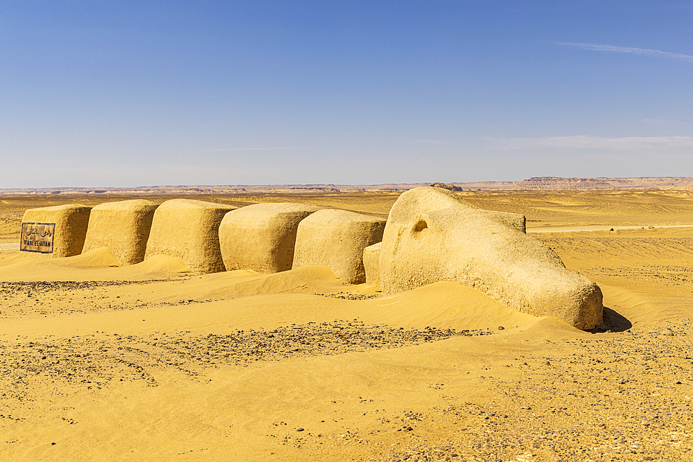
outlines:
{"label": "leftmost tan rounded block, around but excluding the Wadi El-Hitan sign", "polygon": [[36,255],[69,257],[82,253],[89,224],[89,211],[91,207],[82,204],[30,208],[24,212],[21,222],[55,223],[53,253]]}

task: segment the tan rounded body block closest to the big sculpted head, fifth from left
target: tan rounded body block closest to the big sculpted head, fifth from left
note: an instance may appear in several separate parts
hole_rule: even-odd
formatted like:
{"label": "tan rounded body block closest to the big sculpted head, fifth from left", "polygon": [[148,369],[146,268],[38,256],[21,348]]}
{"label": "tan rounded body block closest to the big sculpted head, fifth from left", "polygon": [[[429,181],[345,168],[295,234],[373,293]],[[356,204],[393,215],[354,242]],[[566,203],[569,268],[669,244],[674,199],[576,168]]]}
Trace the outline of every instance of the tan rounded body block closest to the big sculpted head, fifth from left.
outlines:
{"label": "tan rounded body block closest to the big sculpted head, fifth from left", "polygon": [[317,211],[299,224],[294,268],[326,266],[342,281],[366,281],[363,249],[383,239],[385,220],[346,210]]}

